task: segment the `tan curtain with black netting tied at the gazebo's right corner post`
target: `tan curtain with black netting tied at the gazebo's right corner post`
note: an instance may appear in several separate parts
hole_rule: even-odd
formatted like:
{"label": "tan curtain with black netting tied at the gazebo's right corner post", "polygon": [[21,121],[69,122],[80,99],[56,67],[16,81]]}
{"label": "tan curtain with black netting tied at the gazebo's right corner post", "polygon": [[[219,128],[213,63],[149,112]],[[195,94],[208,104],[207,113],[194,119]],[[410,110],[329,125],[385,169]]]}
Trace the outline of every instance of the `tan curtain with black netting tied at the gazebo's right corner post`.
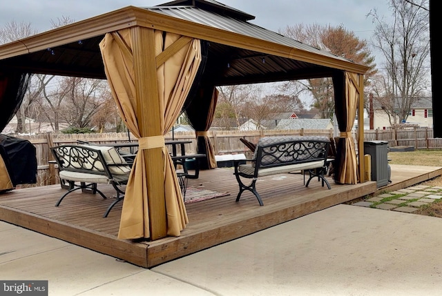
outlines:
{"label": "tan curtain with black netting tied at the gazebo's right corner post", "polygon": [[349,72],[336,72],[333,77],[335,112],[340,130],[336,143],[336,171],[334,180],[339,184],[358,183],[358,164],[352,128],[358,106],[358,75]]}

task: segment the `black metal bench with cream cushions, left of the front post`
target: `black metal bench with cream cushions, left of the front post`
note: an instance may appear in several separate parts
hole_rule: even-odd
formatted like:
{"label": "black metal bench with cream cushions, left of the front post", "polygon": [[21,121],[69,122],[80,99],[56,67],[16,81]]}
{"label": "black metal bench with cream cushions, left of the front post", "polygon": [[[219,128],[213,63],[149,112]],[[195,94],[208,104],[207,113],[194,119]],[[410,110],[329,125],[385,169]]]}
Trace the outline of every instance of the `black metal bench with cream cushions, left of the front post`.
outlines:
{"label": "black metal bench with cream cushions, left of the front post", "polygon": [[117,192],[115,201],[108,207],[103,217],[107,217],[113,206],[124,198],[122,186],[127,184],[131,166],[124,161],[117,150],[106,146],[63,145],[51,148],[59,168],[59,177],[68,183],[65,193],[55,206],[75,190],[99,193],[97,184],[111,184]]}

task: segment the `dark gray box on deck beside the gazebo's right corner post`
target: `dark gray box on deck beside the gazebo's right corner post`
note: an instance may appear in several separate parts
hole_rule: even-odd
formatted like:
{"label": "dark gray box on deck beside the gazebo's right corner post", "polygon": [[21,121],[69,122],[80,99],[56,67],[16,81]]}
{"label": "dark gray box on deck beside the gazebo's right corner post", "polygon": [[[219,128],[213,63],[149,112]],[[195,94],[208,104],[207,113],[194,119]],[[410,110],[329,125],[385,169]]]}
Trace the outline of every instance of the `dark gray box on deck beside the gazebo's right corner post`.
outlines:
{"label": "dark gray box on deck beside the gazebo's right corner post", "polygon": [[372,158],[372,181],[376,181],[377,188],[388,184],[388,142],[387,141],[365,141],[364,154]]}

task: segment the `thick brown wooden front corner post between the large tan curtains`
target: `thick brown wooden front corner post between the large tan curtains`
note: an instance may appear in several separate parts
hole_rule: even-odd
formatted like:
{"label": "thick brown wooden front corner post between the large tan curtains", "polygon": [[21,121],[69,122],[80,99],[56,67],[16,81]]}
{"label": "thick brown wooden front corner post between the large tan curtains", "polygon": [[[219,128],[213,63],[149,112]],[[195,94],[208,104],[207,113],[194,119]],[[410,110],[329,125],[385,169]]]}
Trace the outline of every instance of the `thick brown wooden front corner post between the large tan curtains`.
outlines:
{"label": "thick brown wooden front corner post between the large tan curtains", "polygon": [[[142,137],[163,135],[162,116],[157,87],[154,30],[132,29],[137,121]],[[144,41],[143,41],[144,40]],[[143,150],[146,159],[149,230],[151,239],[167,236],[166,204],[164,201],[164,159],[162,148]]]}

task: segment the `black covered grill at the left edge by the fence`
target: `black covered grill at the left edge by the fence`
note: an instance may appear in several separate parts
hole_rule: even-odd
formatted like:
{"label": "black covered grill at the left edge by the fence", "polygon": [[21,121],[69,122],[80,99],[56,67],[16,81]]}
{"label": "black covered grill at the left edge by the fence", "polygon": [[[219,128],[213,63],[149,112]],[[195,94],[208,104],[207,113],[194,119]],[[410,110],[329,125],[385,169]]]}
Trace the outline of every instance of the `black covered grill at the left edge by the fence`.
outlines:
{"label": "black covered grill at the left edge by the fence", "polygon": [[30,141],[0,134],[0,152],[12,185],[37,183],[37,157]]}

